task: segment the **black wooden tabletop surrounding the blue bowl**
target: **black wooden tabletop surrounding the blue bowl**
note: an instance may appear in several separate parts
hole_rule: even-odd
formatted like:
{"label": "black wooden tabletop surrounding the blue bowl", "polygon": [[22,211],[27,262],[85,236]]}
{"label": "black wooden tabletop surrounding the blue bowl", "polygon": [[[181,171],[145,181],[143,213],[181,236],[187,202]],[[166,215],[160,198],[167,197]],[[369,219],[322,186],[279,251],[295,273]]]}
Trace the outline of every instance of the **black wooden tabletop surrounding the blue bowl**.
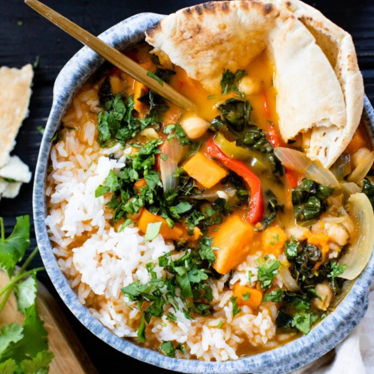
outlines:
{"label": "black wooden tabletop surrounding the blue bowl", "polygon": [[[123,19],[141,12],[171,13],[179,8],[197,4],[195,0],[117,1],[117,0],[45,0],[47,5],[72,21],[100,34]],[[364,76],[365,92],[374,102],[374,2],[372,0],[318,0],[306,1],[321,10],[328,18],[352,34],[359,65]],[[39,56],[35,70],[30,116],[24,121],[17,138],[14,153],[35,169],[41,135],[37,126],[45,126],[52,104],[53,83],[68,59],[81,48],[79,42],[51,25],[21,0],[2,0],[0,11],[0,66],[22,67]],[[31,194],[33,181],[24,184],[16,199],[0,201],[0,214],[5,218],[9,234],[17,215],[32,217]],[[32,222],[32,218],[31,218]],[[36,245],[31,225],[31,247]],[[37,256],[31,266],[42,266]],[[127,371],[129,365],[149,373],[161,373],[152,365],[138,362],[107,346],[89,332],[65,307],[46,273],[39,277],[59,302],[74,331],[87,350],[99,373]],[[127,370],[126,370],[127,369]],[[65,373],[64,373],[65,374]],[[66,373],[70,374],[70,373]]]}

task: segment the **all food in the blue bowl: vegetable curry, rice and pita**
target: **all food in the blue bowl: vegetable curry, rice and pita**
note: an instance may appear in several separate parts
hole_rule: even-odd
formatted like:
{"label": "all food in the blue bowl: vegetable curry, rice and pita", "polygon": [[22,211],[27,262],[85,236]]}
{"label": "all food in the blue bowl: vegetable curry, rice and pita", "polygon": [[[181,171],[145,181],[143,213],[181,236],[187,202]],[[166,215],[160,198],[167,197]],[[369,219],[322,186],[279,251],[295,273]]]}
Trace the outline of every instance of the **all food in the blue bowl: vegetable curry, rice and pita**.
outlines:
{"label": "all food in the blue bowl: vegetable curry, rice and pita", "polygon": [[[46,224],[79,300],[120,337],[205,361],[263,352],[308,334],[367,264],[374,151],[359,124],[362,78],[356,65],[354,76],[352,67],[344,80],[335,75],[344,50],[329,61],[317,28],[310,33],[292,15],[317,12],[309,8],[196,6],[125,51],[193,100],[196,113],[108,66],[72,99],[53,140]],[[235,35],[241,12],[270,24],[243,48],[255,50],[250,59],[237,45],[246,28]],[[294,70],[294,82],[277,46],[283,24],[308,37],[313,52],[298,62],[304,74]],[[348,35],[334,27],[342,40]],[[221,37],[218,61],[211,52]],[[318,102],[302,86],[308,81],[317,81]]]}

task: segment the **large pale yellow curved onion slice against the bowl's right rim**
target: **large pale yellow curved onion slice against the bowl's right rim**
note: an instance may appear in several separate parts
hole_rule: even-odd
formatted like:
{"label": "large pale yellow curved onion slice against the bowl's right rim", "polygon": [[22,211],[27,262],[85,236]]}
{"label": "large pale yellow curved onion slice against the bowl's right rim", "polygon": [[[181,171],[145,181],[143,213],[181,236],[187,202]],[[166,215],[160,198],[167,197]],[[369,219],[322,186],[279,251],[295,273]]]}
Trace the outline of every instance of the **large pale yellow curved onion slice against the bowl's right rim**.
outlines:
{"label": "large pale yellow curved onion slice against the bowl's right rim", "polygon": [[349,198],[349,214],[355,224],[355,242],[343,254],[338,265],[347,265],[344,279],[355,279],[364,270],[374,246],[374,213],[370,200],[364,193],[355,193]]}

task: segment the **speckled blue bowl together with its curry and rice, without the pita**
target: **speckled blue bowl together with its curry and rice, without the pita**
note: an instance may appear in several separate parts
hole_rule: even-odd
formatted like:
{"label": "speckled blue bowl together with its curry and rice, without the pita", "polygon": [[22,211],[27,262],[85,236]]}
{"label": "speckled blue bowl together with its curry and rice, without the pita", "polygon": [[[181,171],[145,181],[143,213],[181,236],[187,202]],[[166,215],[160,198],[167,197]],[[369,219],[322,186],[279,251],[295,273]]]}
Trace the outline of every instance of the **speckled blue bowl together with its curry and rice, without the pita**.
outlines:
{"label": "speckled blue bowl together with its curry and rice, without the pita", "polygon": [[[195,12],[204,30],[210,4],[181,14]],[[216,4],[220,15],[227,6]],[[56,79],[34,184],[43,262],[77,318],[123,353],[188,373],[286,373],[334,347],[367,309],[373,108],[362,86],[355,128],[347,109],[344,129],[331,116],[334,128],[323,118],[287,139],[276,51],[204,76],[205,65],[165,52],[167,22],[142,13],[101,38],[195,112],[87,47]],[[322,126],[340,148],[318,156]]]}

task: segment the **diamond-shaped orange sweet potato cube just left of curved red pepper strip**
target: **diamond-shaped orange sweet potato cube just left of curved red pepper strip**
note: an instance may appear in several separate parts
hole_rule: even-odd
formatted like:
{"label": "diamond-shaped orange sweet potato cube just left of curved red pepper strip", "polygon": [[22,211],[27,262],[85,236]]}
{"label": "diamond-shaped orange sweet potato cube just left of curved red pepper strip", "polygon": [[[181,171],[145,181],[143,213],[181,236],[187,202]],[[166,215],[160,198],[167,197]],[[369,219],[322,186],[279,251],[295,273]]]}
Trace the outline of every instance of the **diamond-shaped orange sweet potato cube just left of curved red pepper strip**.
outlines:
{"label": "diamond-shaped orange sweet potato cube just left of curved red pepper strip", "polygon": [[205,188],[213,187],[227,175],[225,169],[221,168],[217,162],[209,159],[201,152],[191,156],[183,165],[183,169],[190,177],[196,179]]}

